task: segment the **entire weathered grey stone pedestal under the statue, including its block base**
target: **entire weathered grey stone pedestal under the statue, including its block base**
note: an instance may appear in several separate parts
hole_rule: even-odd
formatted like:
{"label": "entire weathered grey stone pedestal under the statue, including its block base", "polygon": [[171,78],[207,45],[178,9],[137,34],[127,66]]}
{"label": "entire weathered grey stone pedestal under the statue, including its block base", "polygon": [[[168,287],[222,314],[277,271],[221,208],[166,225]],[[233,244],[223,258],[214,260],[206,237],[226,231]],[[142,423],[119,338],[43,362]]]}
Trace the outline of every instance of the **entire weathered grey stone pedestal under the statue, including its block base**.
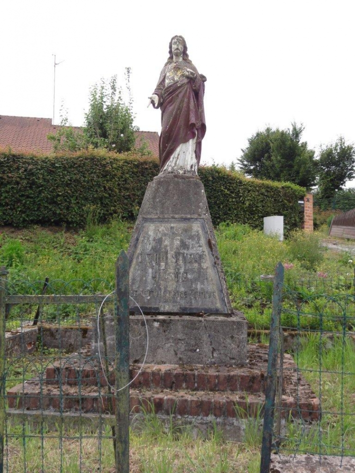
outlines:
{"label": "entire weathered grey stone pedestal under the statue, including its block base", "polygon": [[[161,175],[148,184],[128,256],[131,363],[142,363],[146,350],[141,311],[149,335],[146,363],[247,363],[247,321],[232,311],[199,177]],[[95,327],[93,354],[98,352],[97,338]],[[110,317],[106,341],[114,359]]]}

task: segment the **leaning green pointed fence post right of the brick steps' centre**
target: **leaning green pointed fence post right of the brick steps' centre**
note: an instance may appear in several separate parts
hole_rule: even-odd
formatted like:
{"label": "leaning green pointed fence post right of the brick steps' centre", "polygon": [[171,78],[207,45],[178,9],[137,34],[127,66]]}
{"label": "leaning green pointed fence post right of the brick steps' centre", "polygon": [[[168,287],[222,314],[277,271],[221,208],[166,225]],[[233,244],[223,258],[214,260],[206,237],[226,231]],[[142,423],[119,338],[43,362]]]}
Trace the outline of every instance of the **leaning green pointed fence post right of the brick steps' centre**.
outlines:
{"label": "leaning green pointed fence post right of the brick steps' centre", "polygon": [[274,290],[272,295],[272,315],[270,325],[270,343],[267,359],[266,394],[264,410],[263,441],[261,446],[260,473],[269,473],[271,459],[272,429],[274,423],[275,395],[277,386],[277,355],[279,345],[279,327],[282,308],[282,287],[284,266],[277,263],[275,268]]}

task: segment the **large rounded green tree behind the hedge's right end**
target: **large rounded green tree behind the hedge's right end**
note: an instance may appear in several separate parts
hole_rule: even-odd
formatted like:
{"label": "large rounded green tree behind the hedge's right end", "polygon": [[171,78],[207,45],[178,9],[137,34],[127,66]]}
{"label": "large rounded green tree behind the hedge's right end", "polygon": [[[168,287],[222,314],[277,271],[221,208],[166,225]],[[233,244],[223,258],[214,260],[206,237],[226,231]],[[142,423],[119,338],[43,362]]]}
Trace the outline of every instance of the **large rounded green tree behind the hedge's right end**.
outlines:
{"label": "large rounded green tree behind the hedge's right end", "polygon": [[258,131],[248,139],[248,147],[242,149],[242,171],[258,179],[292,182],[307,189],[314,186],[315,152],[301,141],[303,130],[302,124],[292,123],[291,129],[267,127]]}

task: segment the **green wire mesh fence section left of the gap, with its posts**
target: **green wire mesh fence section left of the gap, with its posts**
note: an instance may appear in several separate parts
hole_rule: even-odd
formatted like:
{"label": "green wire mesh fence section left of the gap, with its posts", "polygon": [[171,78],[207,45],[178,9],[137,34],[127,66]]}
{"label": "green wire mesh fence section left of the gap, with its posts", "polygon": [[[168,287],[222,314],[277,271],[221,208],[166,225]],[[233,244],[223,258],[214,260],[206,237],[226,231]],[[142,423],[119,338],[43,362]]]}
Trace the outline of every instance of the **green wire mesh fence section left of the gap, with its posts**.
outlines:
{"label": "green wire mesh fence section left of the gap, with its posts", "polygon": [[[105,280],[11,283],[7,274],[2,266],[0,473],[127,473],[127,255],[117,259],[115,288]],[[104,309],[113,315],[113,357]],[[99,353],[88,343],[92,321]]]}

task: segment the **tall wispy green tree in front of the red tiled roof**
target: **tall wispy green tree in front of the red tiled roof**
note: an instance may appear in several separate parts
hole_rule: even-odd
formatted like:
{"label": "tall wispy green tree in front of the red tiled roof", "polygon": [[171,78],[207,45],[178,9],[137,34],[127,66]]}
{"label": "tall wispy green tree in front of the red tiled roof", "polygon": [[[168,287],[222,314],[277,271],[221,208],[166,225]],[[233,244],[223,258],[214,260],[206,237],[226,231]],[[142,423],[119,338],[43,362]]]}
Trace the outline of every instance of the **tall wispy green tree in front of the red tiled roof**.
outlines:
{"label": "tall wispy green tree in front of the red tiled roof", "polygon": [[128,104],[122,97],[122,88],[117,87],[117,76],[108,81],[101,79],[89,91],[89,111],[85,114],[84,127],[68,126],[64,116],[61,128],[55,135],[49,135],[54,151],[77,151],[79,149],[102,148],[117,153],[130,151],[135,143],[133,125],[132,95],[129,85],[130,68],[126,68]]}

